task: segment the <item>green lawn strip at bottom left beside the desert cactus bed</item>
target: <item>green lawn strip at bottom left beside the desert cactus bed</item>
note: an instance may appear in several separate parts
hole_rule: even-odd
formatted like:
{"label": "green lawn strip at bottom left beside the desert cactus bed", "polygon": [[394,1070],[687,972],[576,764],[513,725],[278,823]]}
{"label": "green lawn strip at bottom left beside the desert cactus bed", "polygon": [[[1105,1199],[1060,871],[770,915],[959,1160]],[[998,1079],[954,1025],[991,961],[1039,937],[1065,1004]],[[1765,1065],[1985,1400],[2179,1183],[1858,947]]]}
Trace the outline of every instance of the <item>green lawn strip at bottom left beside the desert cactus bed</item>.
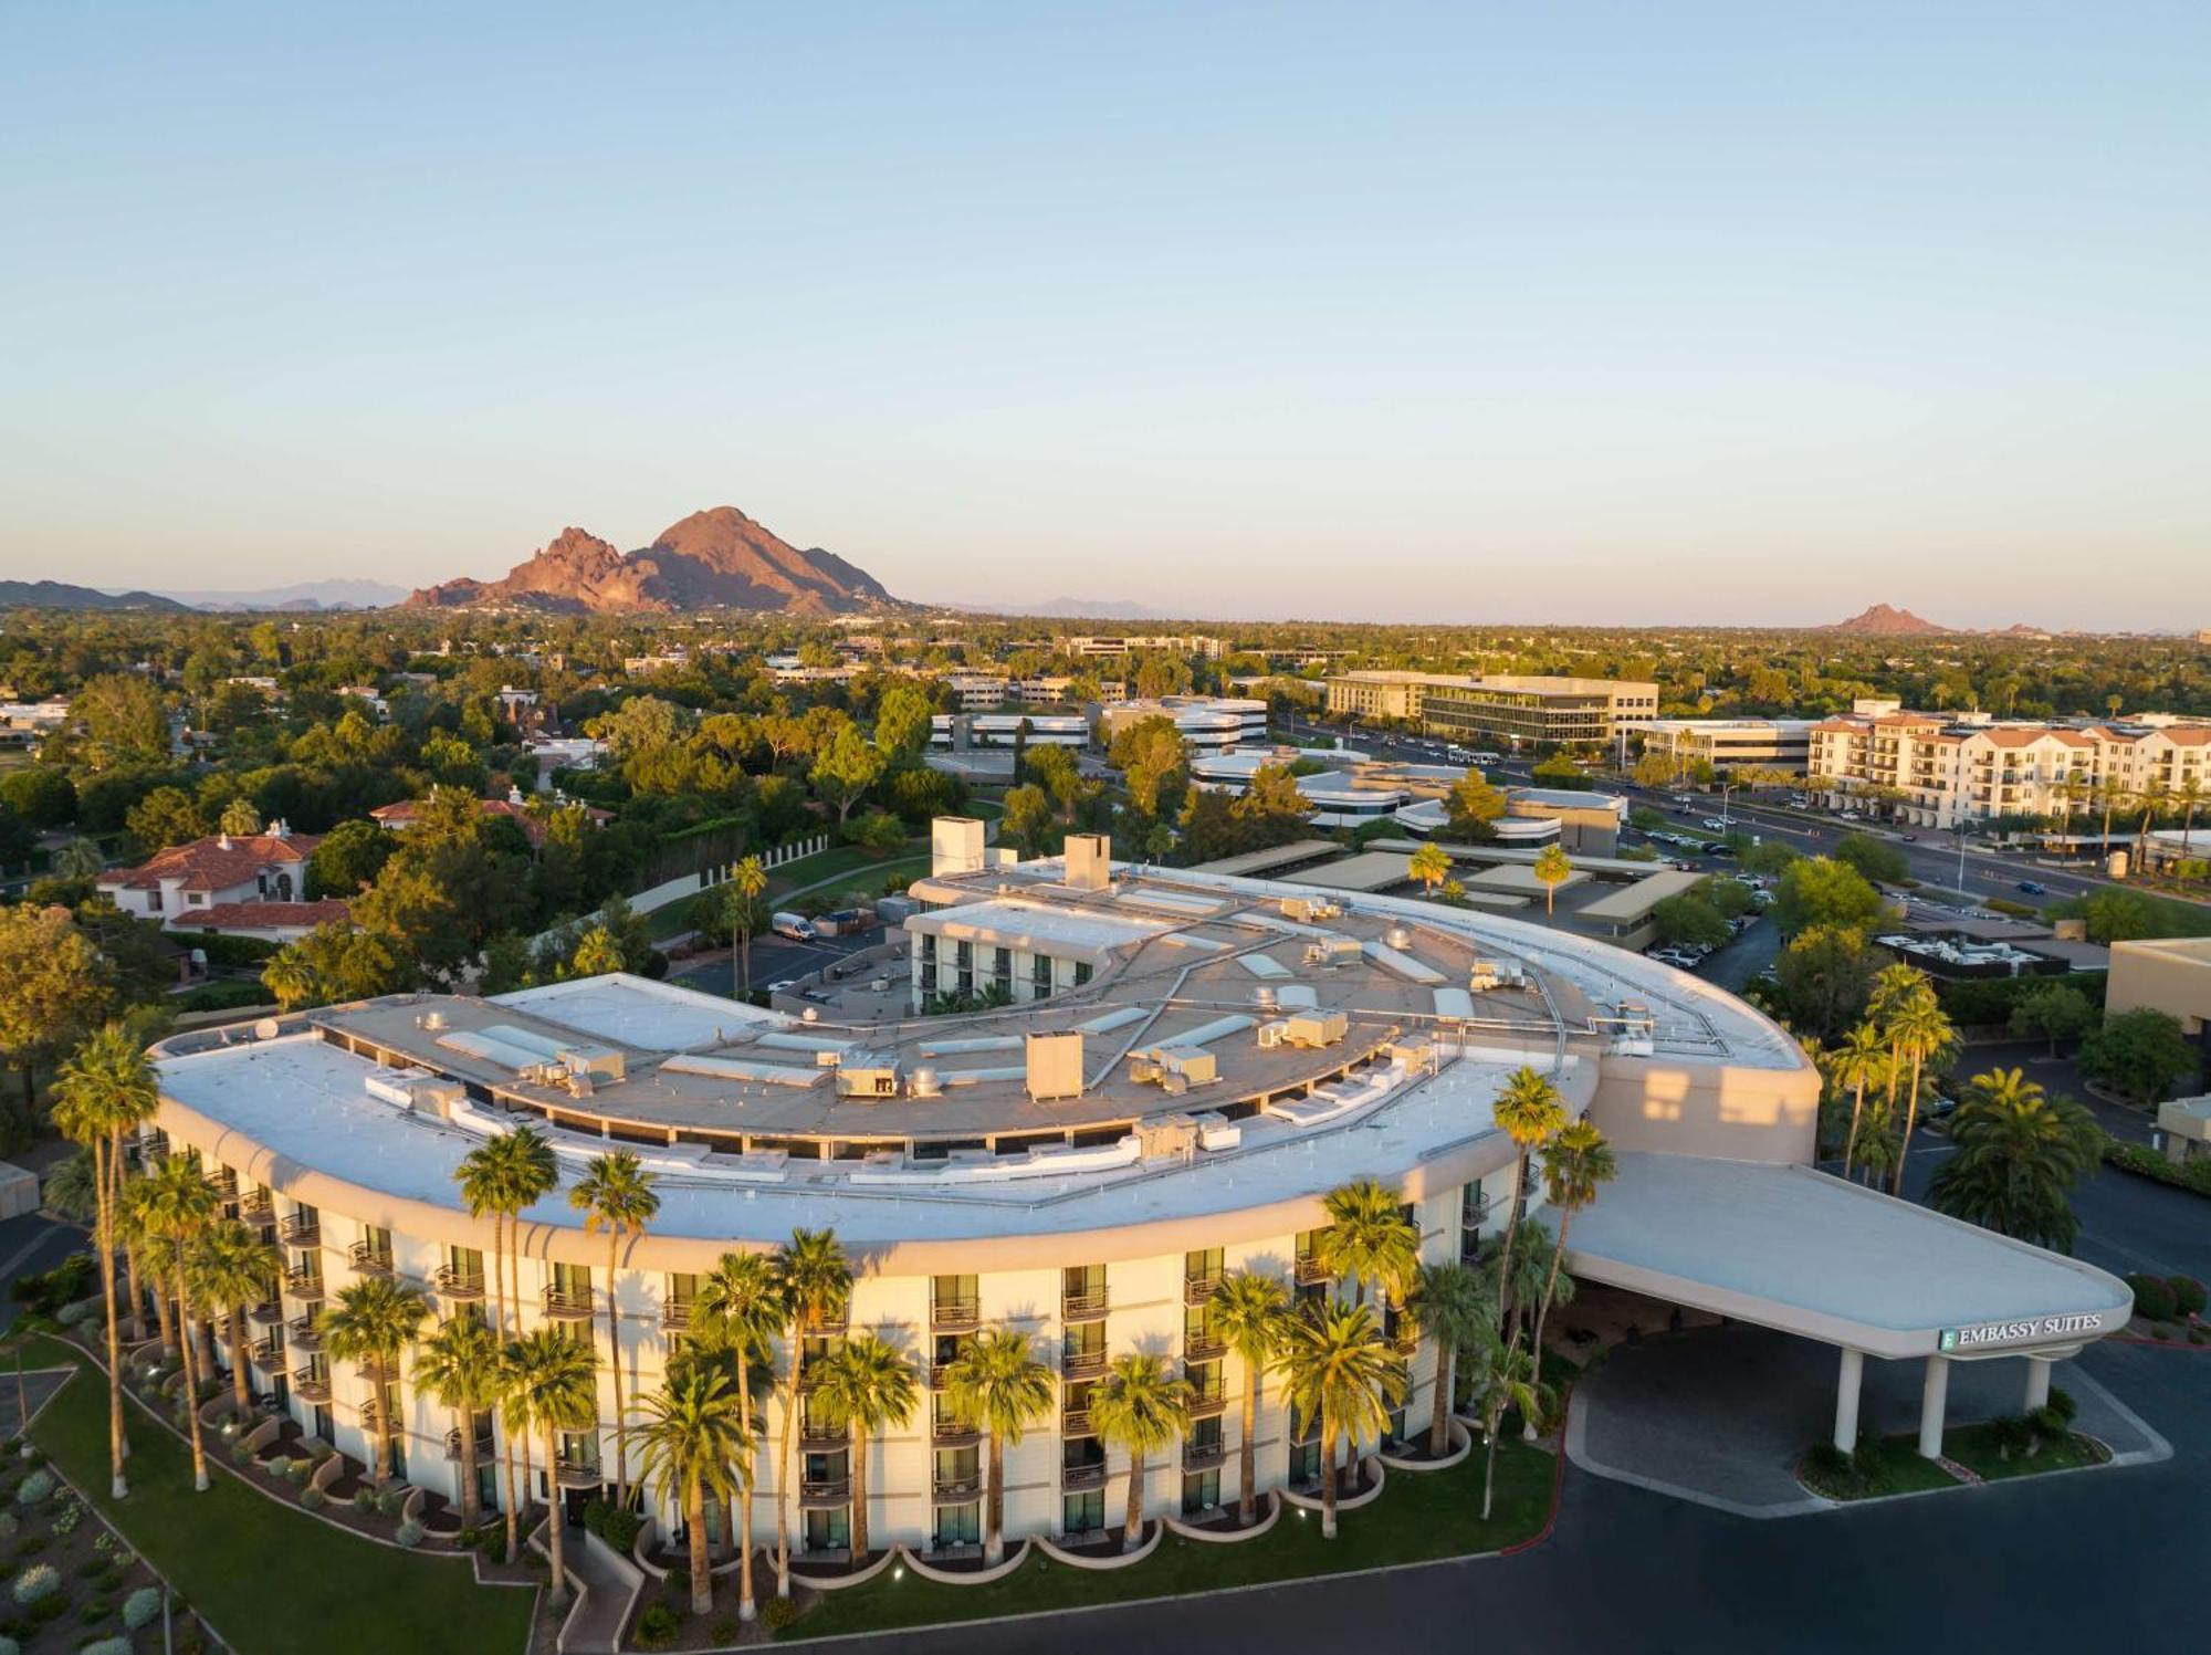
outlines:
{"label": "green lawn strip at bottom left beside the desert cactus bed", "polygon": [[212,1463],[214,1487],[192,1493],[190,1449],[128,1403],[130,1498],[111,1498],[106,1376],[53,1339],[31,1339],[24,1361],[77,1370],[31,1425],[33,1440],[239,1655],[497,1655],[528,1644],[531,1591],[478,1586],[467,1558],[349,1536]]}

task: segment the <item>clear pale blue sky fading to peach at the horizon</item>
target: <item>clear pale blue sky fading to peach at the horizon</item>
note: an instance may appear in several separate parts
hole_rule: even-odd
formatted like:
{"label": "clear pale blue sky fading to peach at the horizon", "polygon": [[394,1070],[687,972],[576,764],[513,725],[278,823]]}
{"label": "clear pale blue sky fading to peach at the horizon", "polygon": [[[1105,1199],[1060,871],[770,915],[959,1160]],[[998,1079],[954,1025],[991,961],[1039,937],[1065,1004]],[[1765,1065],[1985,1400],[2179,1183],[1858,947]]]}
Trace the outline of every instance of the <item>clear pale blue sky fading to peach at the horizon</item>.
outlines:
{"label": "clear pale blue sky fading to peach at the horizon", "polygon": [[2211,624],[2211,7],[0,4],[0,575]]}

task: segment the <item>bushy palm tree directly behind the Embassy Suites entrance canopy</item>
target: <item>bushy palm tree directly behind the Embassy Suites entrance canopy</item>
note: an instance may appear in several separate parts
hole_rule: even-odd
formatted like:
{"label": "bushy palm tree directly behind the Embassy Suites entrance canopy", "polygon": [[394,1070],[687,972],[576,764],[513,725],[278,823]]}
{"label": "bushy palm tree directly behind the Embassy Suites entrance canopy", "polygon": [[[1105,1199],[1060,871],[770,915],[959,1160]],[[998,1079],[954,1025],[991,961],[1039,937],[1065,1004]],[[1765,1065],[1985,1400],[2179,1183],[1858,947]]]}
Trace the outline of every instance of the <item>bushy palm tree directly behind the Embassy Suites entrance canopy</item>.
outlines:
{"label": "bushy palm tree directly behind the Embassy Suites entrance canopy", "polygon": [[2072,1252],[2067,1199],[2103,1151],[2103,1131],[2072,1097],[2047,1097],[2019,1069],[1972,1078],[1950,1122],[1957,1155],[1935,1170],[1928,1206],[1983,1230]]}

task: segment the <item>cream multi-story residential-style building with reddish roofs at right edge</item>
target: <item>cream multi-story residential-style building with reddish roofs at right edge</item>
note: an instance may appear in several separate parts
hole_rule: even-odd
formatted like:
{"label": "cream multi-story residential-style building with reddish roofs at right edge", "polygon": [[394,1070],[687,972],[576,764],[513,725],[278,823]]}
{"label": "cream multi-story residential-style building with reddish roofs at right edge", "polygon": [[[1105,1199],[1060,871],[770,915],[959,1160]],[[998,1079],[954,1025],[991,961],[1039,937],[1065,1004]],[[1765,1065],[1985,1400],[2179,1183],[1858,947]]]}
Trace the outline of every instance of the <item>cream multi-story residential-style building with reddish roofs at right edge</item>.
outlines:
{"label": "cream multi-story residential-style building with reddish roofs at right edge", "polygon": [[2178,810],[2191,790],[2211,794],[2211,724],[2030,724],[1862,701],[1811,728],[1806,774],[1833,801],[1871,799],[1921,828],[2100,814],[2107,799],[2120,816],[2154,799]]}

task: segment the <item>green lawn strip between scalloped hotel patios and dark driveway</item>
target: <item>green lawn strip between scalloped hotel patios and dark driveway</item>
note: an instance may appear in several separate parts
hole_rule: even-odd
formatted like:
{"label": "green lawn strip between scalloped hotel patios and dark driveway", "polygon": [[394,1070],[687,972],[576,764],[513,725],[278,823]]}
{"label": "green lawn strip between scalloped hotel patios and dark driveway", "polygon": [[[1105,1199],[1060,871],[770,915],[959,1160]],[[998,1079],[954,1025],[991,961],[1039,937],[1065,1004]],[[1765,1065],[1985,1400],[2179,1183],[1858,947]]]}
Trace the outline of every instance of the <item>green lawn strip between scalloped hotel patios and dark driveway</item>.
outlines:
{"label": "green lawn strip between scalloped hotel patios and dark driveway", "polygon": [[1543,1449],[1501,1443],[1497,1509],[1488,1522],[1481,1520],[1477,1447],[1448,1471],[1391,1471],[1380,1500],[1338,1516],[1333,1542],[1320,1538],[1318,1511],[1300,1516],[1289,1507],[1258,1540],[1212,1544],[1167,1533],[1150,1558],[1128,1569],[1070,1569],[1033,1549],[1019,1571],[988,1586],[942,1586],[913,1573],[893,1580],[887,1571],[865,1586],[825,1593],[783,1637],[1033,1615],[1497,1551],[1543,1527],[1557,1465]]}

